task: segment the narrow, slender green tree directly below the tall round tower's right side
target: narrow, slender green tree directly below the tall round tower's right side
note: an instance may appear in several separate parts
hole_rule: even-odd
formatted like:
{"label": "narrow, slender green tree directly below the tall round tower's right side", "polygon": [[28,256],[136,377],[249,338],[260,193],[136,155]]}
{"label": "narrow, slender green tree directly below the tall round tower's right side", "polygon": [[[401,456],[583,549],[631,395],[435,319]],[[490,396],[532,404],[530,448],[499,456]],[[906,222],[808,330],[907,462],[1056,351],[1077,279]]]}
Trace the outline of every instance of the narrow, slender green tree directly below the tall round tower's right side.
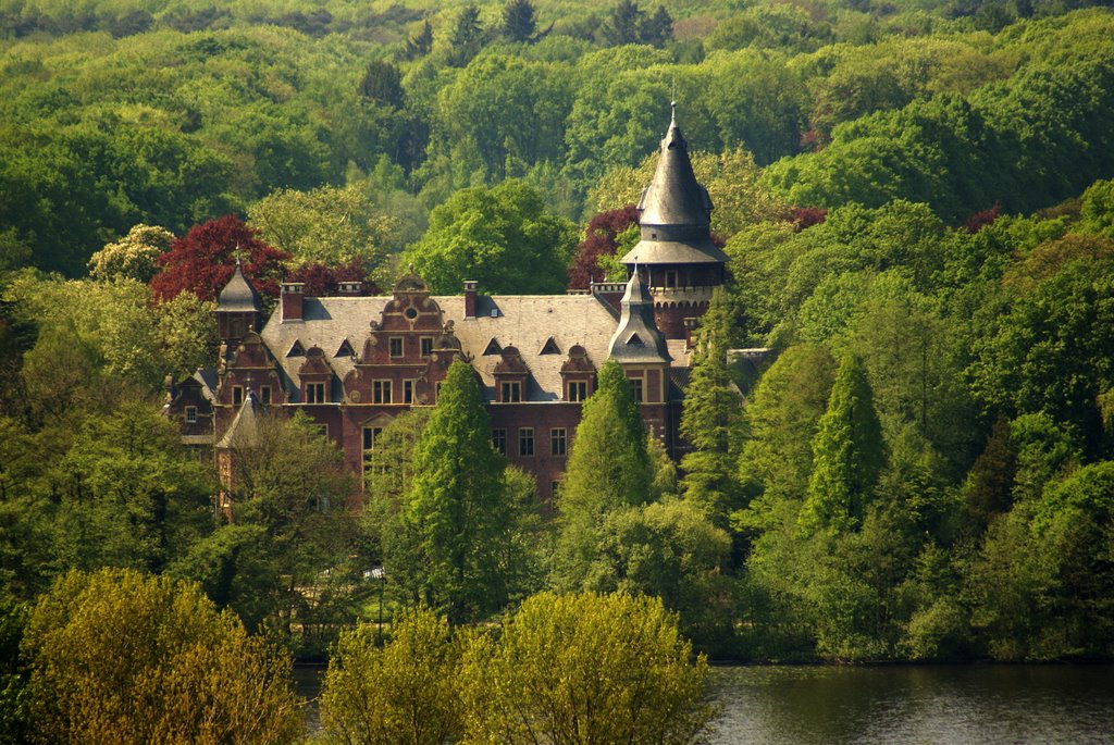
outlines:
{"label": "narrow, slender green tree directly below the tall round tower's right side", "polygon": [[701,320],[700,337],[693,355],[692,378],[685,393],[681,435],[692,452],[681,461],[685,499],[703,508],[721,528],[739,494],[735,461],[742,418],[742,399],[727,372],[731,313],[726,293],[717,287],[712,304]]}

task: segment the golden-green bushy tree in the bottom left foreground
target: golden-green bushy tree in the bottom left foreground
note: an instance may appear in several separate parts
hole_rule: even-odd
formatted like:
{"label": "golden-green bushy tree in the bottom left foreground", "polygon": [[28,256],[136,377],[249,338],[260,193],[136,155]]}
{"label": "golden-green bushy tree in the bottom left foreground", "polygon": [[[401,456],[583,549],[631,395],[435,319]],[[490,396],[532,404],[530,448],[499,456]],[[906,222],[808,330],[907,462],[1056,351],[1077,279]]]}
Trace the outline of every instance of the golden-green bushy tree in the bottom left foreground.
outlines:
{"label": "golden-green bushy tree in the bottom left foreground", "polygon": [[[110,630],[110,633],[109,633]],[[196,586],[135,571],[70,572],[22,643],[35,742],[293,743],[290,658]]]}

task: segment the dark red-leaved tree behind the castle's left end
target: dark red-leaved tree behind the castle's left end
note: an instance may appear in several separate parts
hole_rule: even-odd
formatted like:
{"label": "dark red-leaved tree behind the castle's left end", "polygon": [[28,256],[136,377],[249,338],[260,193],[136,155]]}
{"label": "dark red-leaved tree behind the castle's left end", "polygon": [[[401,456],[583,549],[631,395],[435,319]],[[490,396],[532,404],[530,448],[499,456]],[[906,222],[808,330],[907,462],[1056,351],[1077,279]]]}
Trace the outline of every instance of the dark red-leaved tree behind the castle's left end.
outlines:
{"label": "dark red-leaved tree behind the castle's left end", "polygon": [[193,226],[158,257],[163,271],[150,281],[155,298],[163,302],[192,292],[201,300],[216,300],[236,271],[237,248],[244,276],[256,292],[277,296],[283,262],[290,254],[260,241],[256,234],[235,215]]}

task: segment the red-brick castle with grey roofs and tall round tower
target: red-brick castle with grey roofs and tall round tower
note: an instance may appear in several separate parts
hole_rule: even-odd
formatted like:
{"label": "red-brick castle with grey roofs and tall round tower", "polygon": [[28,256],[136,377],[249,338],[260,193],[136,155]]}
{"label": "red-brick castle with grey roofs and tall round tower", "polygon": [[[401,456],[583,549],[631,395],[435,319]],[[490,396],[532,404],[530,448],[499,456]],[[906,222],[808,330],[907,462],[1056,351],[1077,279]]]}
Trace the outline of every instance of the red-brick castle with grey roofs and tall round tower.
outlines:
{"label": "red-brick castle with grey roofs and tall round tower", "polygon": [[647,428],[680,458],[691,332],[724,282],[711,210],[674,114],[638,204],[641,241],[622,259],[626,283],[567,295],[485,295],[463,281],[461,294],[440,296],[411,273],[389,296],[363,296],[360,283],[344,283],[336,296],[312,297],[287,282],[264,318],[237,263],[216,311],[217,366],[172,386],[169,414],[186,442],[216,450],[226,487],[233,445],[251,437],[264,408],[304,412],[362,473],[383,428],[411,406],[436,405],[448,366],[462,360],[480,381],[494,447],[532,473],[550,500],[580,403],[599,365],[614,359]]}

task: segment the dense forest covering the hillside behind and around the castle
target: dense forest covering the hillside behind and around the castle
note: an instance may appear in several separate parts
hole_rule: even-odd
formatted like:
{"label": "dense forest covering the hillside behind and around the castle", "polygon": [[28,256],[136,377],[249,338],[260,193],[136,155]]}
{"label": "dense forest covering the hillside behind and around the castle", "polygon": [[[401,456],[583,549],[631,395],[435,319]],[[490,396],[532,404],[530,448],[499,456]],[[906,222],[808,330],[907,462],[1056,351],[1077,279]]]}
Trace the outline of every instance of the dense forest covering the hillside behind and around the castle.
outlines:
{"label": "dense forest covering the hillside behind and around the castle", "polygon": [[[304,656],[384,609],[553,590],[656,596],[733,659],[1114,658],[1089,4],[0,0],[3,587],[188,579]],[[603,366],[549,514],[457,371],[382,433],[359,517],[335,451],[275,418],[214,525],[158,406],[214,359],[236,251],[272,295],[411,263],[438,293],[584,287],[622,269],[671,98],[732,275],[680,464]]]}

